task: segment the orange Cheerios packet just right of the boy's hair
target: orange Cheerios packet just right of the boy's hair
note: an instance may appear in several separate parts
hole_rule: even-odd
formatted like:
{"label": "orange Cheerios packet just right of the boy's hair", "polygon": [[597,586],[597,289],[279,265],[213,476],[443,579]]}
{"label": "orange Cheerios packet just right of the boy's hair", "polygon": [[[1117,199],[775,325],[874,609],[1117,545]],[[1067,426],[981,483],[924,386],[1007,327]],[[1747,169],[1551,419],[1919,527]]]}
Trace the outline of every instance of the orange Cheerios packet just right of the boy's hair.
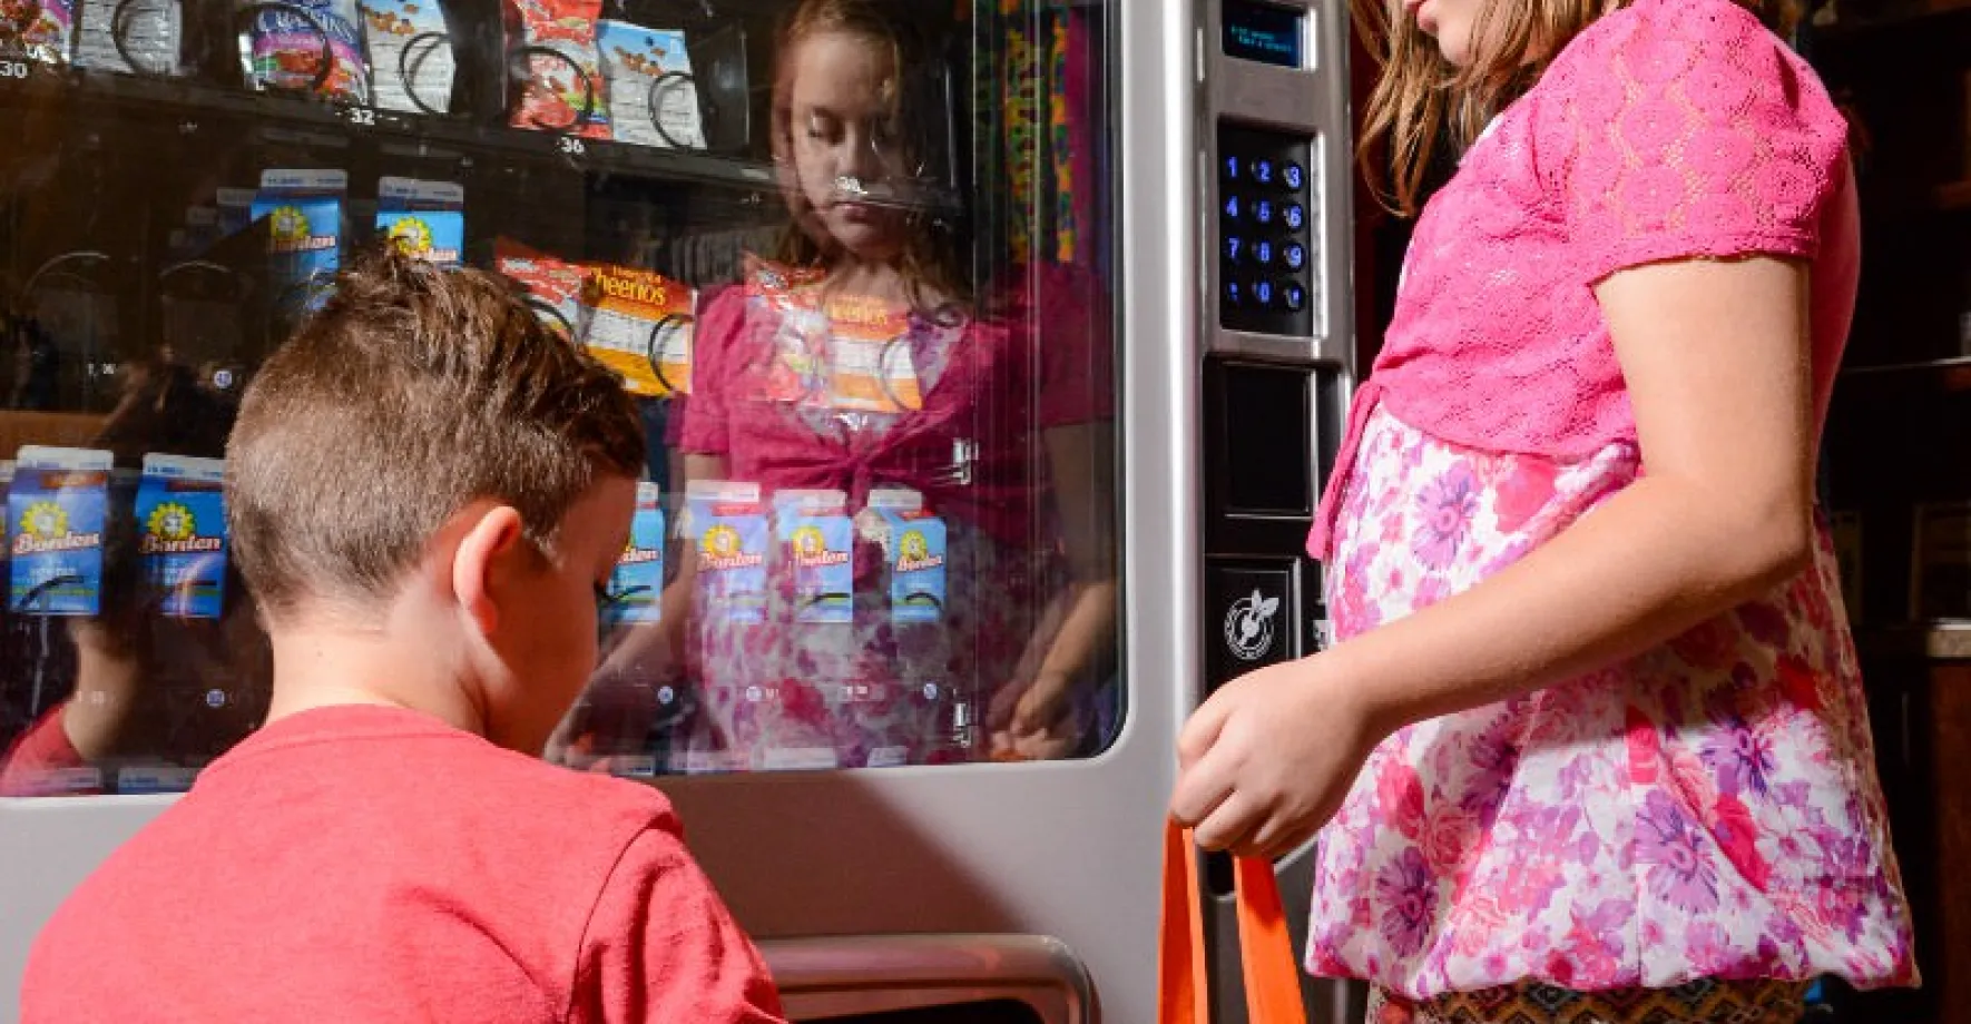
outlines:
{"label": "orange Cheerios packet just right of the boy's hair", "polygon": [[662,274],[595,264],[581,282],[589,354],[643,396],[692,392],[692,313],[698,293]]}

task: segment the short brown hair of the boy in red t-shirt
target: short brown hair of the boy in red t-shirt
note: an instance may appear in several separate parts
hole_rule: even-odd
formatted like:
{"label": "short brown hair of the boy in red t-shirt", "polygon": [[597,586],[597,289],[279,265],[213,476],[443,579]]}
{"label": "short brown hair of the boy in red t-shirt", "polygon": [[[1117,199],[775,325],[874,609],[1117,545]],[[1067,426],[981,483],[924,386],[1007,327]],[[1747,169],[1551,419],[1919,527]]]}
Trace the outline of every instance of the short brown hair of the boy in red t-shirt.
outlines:
{"label": "short brown hair of the boy in red t-shirt", "polygon": [[240,573],[280,620],[394,597],[459,508],[493,498],[554,544],[603,475],[645,461],[623,380],[552,333],[520,291],[394,248],[357,258],[276,351],[227,445],[227,520]]}

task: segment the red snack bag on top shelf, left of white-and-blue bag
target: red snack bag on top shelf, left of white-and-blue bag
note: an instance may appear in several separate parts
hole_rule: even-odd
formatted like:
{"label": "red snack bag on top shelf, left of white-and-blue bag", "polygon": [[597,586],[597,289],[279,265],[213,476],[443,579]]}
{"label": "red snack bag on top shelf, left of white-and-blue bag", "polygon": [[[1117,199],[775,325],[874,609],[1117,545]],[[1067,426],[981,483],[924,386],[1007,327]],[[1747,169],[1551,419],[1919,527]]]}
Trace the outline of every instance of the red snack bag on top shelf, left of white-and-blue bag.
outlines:
{"label": "red snack bag on top shelf, left of white-and-blue bag", "polygon": [[507,0],[509,39],[530,51],[510,61],[526,77],[514,128],[609,138],[609,91],[595,53],[601,10],[601,0]]}

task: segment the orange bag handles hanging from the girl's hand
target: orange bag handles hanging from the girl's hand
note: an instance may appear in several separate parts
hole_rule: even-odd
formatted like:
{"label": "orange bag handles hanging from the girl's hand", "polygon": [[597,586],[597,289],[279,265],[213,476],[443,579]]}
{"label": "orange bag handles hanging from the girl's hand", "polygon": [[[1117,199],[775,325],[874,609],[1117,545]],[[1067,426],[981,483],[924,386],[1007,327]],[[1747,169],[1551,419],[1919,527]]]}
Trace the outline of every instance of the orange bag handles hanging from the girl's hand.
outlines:
{"label": "orange bag handles hanging from the girl's hand", "polygon": [[[1307,1024],[1301,973],[1287,937],[1273,864],[1232,861],[1238,894],[1240,967],[1252,1024]],[[1190,829],[1163,827],[1163,916],[1157,926],[1157,1024],[1210,1024],[1204,918],[1198,912],[1198,843]]]}

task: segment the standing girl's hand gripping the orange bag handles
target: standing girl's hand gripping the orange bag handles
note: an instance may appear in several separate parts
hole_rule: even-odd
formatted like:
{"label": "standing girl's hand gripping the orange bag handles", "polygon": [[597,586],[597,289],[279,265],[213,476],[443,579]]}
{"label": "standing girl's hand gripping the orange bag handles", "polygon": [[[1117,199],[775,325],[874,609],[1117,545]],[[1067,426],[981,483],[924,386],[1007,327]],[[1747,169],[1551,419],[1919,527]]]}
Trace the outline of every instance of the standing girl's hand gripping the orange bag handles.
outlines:
{"label": "standing girl's hand gripping the orange bag handles", "polygon": [[1277,859],[1340,807],[1388,733],[1334,654],[1240,675],[1190,715],[1171,817],[1196,827],[1198,845]]}

